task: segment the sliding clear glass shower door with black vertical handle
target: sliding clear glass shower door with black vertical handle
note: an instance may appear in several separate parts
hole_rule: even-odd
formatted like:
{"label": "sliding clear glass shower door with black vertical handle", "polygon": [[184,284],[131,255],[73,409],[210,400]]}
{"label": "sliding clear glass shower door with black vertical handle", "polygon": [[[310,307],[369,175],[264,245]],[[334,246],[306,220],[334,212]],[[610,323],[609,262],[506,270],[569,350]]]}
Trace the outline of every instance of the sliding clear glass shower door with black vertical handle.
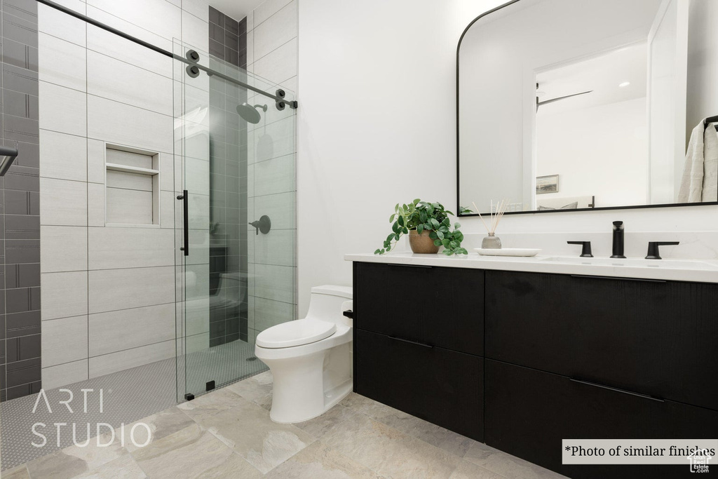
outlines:
{"label": "sliding clear glass shower door with black vertical handle", "polygon": [[193,76],[176,61],[175,151],[183,169],[176,210],[185,248],[178,380],[197,396],[265,371],[254,357],[256,334],[294,319],[294,109],[280,110],[274,98],[231,80],[271,94],[278,85],[196,48],[177,50],[195,50],[200,65],[229,78]]}

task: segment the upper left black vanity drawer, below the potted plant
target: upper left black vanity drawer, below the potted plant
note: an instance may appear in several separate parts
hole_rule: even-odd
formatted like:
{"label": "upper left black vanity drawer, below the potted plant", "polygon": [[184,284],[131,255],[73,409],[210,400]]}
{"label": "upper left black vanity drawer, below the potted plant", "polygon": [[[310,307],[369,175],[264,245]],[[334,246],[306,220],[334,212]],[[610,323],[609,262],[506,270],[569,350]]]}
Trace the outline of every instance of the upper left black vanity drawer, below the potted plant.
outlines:
{"label": "upper left black vanity drawer, below the potted plant", "polygon": [[354,263],[354,327],[483,355],[484,272]]}

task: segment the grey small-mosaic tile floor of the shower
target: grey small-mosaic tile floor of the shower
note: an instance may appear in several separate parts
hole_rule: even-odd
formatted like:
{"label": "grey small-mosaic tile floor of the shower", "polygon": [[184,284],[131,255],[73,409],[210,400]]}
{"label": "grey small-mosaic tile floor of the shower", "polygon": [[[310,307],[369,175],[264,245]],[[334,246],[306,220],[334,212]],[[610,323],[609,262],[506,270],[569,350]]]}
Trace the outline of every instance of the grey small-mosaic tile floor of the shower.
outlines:
{"label": "grey small-mosaic tile floor of the shower", "polygon": [[[0,475],[4,478],[6,469],[73,445],[73,434],[74,442],[83,444],[88,437],[88,428],[90,437],[95,437],[97,424],[109,424],[105,430],[129,424],[174,406],[178,399],[184,401],[187,391],[194,394],[205,391],[207,381],[215,380],[223,384],[266,371],[261,361],[247,361],[253,355],[253,345],[233,341],[187,356],[49,389],[45,393],[51,411],[42,404],[34,409],[37,394],[0,403],[0,460],[3,469]],[[87,409],[81,410],[84,409],[85,390],[90,391],[88,404]],[[99,408],[99,391],[103,391],[102,410]],[[148,391],[151,393],[148,394]],[[60,401],[67,401],[68,397],[73,398],[70,404],[72,410],[60,405]],[[32,447],[32,442],[39,440],[32,429],[36,423],[47,424],[37,429],[47,437],[44,447]],[[53,426],[56,423],[68,426],[62,427],[58,434]],[[71,429],[73,423],[77,424],[75,432]]]}

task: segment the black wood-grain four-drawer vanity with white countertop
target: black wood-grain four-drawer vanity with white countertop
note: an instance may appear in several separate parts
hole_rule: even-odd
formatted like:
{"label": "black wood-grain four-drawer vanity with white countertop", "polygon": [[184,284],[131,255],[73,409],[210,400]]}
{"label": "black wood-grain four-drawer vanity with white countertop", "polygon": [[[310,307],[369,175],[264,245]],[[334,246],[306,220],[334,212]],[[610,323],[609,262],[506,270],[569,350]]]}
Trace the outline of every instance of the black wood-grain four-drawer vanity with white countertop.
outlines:
{"label": "black wood-grain four-drawer vanity with white countertop", "polygon": [[718,432],[718,261],[345,259],[358,394],[571,478],[689,468],[562,465],[564,439]]}

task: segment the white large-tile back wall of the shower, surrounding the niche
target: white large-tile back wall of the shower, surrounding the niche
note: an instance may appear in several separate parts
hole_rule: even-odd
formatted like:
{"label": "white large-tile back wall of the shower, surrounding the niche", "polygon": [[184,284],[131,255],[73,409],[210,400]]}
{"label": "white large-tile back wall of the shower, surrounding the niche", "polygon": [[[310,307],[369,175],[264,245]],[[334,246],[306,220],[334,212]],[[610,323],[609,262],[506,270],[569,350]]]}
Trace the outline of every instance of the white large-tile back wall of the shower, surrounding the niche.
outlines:
{"label": "white large-tile back wall of the shower, surrounding the niche", "polygon": [[[202,0],[60,3],[167,50],[173,39],[208,50]],[[42,380],[54,388],[172,357],[175,338],[184,341],[175,315],[184,308],[174,303],[184,271],[174,266],[183,168],[173,116],[184,113],[177,98],[185,78],[157,52],[39,5],[39,80]],[[195,104],[208,104],[205,75],[185,87]],[[106,143],[160,154],[160,225],[106,226]],[[200,159],[188,166],[192,186],[202,187],[206,144],[194,147]],[[192,224],[206,231],[208,210],[208,200],[196,199]],[[192,262],[192,294],[201,302],[208,256]],[[208,344],[207,307],[192,312],[194,348]]]}

